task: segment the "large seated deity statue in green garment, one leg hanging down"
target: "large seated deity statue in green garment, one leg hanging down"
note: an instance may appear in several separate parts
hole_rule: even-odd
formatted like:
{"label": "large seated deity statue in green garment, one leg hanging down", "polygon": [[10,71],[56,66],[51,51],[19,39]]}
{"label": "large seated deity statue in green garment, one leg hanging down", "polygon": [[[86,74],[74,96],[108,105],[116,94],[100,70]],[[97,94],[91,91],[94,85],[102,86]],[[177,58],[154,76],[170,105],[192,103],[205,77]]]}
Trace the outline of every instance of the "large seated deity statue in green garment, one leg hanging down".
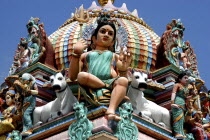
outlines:
{"label": "large seated deity statue in green garment, one leg hanging down", "polygon": [[115,40],[115,25],[107,20],[99,21],[91,37],[92,48],[88,48],[90,51],[83,53],[86,47],[82,41],[75,45],[69,76],[72,81],[77,79],[80,86],[95,90],[94,100],[99,100],[99,96],[102,95],[99,89],[111,90],[106,115],[108,119],[120,120],[115,110],[126,95],[126,72],[132,56],[122,49],[120,55],[115,54]]}

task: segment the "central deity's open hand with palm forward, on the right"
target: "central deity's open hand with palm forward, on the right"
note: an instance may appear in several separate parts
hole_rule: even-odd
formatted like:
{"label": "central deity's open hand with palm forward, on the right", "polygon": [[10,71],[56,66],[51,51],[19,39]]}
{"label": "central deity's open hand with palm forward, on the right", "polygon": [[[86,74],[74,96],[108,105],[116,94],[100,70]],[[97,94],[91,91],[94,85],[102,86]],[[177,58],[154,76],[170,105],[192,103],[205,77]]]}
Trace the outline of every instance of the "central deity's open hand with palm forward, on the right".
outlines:
{"label": "central deity's open hand with palm forward, on the right", "polygon": [[118,70],[126,71],[131,64],[132,53],[130,51],[123,50],[123,47],[121,47],[119,61],[120,61],[120,63],[117,63]]}

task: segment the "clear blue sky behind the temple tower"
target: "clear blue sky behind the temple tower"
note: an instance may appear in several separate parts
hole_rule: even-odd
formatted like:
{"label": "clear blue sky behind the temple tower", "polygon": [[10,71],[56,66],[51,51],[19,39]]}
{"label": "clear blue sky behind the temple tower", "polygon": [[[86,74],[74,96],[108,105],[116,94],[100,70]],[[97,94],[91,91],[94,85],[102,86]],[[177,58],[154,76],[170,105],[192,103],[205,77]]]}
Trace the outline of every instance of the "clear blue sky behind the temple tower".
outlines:
{"label": "clear blue sky behind the temple tower", "polygon": [[[20,37],[27,36],[26,24],[30,17],[39,17],[48,36],[56,31],[84,4],[88,8],[92,0],[1,0],[0,1],[0,83],[7,76]],[[159,35],[171,19],[181,19],[186,30],[184,40],[189,40],[197,55],[201,78],[210,89],[210,1],[209,0],[115,0],[115,6],[126,3],[132,12]]]}

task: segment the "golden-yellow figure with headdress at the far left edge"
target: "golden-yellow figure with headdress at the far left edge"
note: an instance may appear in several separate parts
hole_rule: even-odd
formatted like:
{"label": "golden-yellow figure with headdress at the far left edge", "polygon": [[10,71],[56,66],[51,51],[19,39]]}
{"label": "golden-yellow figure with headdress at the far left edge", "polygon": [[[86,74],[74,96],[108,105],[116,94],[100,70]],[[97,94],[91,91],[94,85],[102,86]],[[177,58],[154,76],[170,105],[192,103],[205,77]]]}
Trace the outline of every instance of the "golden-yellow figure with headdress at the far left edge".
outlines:
{"label": "golden-yellow figure with headdress at the far left edge", "polygon": [[5,79],[7,87],[2,89],[0,96],[5,99],[6,106],[1,106],[2,117],[0,120],[0,139],[10,138],[13,130],[20,130],[22,126],[22,110],[19,106],[20,97],[14,86],[18,76],[11,76]]}

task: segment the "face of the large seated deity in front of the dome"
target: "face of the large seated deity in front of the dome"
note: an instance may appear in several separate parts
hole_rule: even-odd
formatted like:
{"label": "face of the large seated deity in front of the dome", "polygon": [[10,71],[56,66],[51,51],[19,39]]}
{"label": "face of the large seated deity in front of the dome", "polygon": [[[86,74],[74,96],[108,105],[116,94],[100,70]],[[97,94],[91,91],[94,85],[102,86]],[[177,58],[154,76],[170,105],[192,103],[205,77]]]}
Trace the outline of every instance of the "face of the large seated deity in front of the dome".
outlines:
{"label": "face of the large seated deity in front of the dome", "polygon": [[114,45],[114,29],[110,25],[102,26],[97,34],[97,38],[93,37],[96,46],[109,48]]}

